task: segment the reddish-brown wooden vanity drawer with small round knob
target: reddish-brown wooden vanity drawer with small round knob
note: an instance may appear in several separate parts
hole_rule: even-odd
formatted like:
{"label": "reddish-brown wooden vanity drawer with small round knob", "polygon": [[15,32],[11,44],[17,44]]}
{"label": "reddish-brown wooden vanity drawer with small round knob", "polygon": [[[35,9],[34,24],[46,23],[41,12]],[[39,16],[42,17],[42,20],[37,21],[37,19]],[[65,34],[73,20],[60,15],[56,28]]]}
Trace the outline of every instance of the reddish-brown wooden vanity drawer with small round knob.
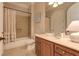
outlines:
{"label": "reddish-brown wooden vanity drawer with small round knob", "polygon": [[55,52],[63,56],[79,56],[79,52],[58,44],[55,44]]}

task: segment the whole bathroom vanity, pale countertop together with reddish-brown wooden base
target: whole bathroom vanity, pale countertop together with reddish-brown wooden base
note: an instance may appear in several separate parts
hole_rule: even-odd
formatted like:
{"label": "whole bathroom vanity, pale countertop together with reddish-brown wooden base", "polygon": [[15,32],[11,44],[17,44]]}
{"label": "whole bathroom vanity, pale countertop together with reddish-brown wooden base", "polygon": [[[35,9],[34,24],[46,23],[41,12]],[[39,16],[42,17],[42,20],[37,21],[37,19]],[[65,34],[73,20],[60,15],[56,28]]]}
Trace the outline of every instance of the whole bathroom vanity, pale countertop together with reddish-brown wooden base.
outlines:
{"label": "whole bathroom vanity, pale countertop together with reddish-brown wooden base", "polygon": [[79,56],[79,43],[46,34],[35,35],[35,49],[37,56]]}

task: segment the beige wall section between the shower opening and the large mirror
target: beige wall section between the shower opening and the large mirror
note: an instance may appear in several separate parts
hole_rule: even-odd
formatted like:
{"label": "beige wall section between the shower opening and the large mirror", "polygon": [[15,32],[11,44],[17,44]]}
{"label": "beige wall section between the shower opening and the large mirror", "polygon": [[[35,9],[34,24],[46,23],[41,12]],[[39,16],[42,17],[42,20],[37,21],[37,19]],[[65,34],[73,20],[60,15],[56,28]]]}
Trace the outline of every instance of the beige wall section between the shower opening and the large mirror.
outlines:
{"label": "beige wall section between the shower opening and the large mirror", "polygon": [[[45,32],[45,4],[44,3],[32,3],[31,4],[31,37],[34,38],[35,34]],[[40,14],[40,16],[39,16]],[[36,22],[40,18],[39,22]]]}

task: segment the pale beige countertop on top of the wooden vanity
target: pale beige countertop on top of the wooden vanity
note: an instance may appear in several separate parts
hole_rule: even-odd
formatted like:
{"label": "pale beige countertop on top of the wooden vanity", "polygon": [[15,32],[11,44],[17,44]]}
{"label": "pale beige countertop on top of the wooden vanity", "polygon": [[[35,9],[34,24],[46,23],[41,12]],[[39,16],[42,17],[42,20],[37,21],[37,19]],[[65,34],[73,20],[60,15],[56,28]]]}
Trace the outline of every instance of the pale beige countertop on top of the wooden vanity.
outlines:
{"label": "pale beige countertop on top of the wooden vanity", "polygon": [[53,35],[46,35],[46,34],[36,34],[35,36],[44,38],[45,40],[48,40],[48,41],[51,41],[51,42],[54,42],[54,43],[57,43],[57,44],[60,44],[68,48],[79,51],[79,43],[72,42],[70,38],[58,39],[54,37]]}

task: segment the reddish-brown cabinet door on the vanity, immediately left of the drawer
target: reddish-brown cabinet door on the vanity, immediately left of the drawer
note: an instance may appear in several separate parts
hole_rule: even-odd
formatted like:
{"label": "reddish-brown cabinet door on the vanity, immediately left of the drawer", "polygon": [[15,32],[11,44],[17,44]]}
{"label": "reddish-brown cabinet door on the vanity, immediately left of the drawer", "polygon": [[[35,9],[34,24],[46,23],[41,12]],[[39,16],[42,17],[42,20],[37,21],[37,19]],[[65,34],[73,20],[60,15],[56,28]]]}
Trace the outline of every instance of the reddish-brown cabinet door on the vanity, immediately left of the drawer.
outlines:
{"label": "reddish-brown cabinet door on the vanity, immediately left of the drawer", "polygon": [[53,43],[43,39],[41,44],[41,52],[43,56],[53,55]]}

